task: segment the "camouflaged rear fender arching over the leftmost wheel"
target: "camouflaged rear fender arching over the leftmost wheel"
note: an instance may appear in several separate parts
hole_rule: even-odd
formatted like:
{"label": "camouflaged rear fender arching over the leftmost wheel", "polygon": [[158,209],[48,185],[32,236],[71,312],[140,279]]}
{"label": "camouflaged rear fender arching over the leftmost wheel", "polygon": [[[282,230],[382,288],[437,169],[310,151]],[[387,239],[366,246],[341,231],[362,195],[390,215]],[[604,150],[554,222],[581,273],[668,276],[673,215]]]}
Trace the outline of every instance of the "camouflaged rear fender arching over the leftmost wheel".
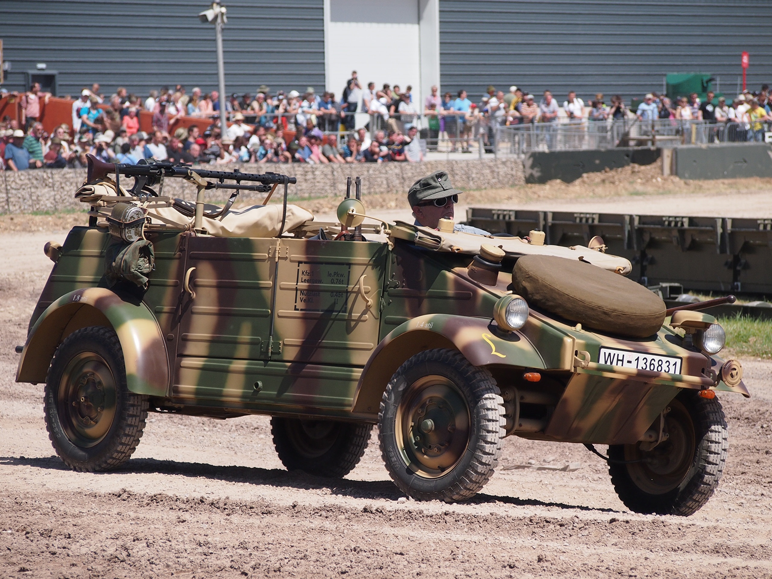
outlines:
{"label": "camouflaged rear fender arching over the leftmost wheel", "polygon": [[90,326],[115,330],[124,353],[130,391],[151,396],[167,394],[166,344],[153,313],[144,303],[123,300],[101,287],[76,289],[46,308],[29,331],[16,381],[45,382],[59,344],[75,330]]}

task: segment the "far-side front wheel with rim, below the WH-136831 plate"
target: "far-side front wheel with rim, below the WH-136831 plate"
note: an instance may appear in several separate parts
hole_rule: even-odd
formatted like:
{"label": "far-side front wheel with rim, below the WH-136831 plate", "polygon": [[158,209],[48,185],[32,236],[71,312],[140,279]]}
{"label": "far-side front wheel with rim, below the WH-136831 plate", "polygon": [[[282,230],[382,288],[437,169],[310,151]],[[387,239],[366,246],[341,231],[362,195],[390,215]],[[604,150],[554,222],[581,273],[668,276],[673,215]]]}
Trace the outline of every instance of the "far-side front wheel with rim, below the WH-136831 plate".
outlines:
{"label": "far-side front wheel with rim, below the WH-136831 plate", "polygon": [[689,390],[669,407],[665,415],[669,438],[654,449],[642,451],[640,442],[608,447],[613,460],[656,461],[608,464],[614,489],[635,513],[696,513],[713,495],[723,473],[729,429],[718,399],[701,398]]}

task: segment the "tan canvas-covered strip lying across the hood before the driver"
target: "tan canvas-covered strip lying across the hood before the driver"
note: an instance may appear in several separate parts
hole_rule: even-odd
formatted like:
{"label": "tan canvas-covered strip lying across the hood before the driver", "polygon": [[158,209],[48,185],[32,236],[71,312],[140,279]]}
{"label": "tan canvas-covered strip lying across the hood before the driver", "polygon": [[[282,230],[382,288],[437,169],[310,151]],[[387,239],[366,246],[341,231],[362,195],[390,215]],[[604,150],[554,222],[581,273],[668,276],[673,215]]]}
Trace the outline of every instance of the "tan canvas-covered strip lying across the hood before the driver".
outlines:
{"label": "tan canvas-covered strip lying across the hood before the driver", "polygon": [[608,269],[623,276],[632,271],[632,264],[628,259],[619,256],[611,256],[590,249],[584,245],[564,247],[562,245],[531,245],[526,239],[520,237],[494,237],[493,235],[475,235],[462,232],[439,232],[436,229],[411,225],[410,223],[396,222],[391,229],[391,235],[398,239],[406,239],[427,249],[438,252],[466,253],[478,255],[480,245],[489,243],[496,245],[506,252],[507,256],[556,256],[565,259],[573,259],[591,263],[594,266]]}

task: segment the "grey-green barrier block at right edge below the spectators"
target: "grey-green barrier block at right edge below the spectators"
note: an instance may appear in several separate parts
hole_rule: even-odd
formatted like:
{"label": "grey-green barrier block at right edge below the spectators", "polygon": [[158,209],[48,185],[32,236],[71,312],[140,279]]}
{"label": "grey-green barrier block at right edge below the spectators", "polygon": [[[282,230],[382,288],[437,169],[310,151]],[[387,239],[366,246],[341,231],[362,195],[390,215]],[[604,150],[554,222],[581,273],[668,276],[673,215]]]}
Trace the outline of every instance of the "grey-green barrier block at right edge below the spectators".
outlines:
{"label": "grey-green barrier block at right edge below the spectators", "polygon": [[772,177],[772,147],[764,143],[694,145],[674,151],[682,179]]}

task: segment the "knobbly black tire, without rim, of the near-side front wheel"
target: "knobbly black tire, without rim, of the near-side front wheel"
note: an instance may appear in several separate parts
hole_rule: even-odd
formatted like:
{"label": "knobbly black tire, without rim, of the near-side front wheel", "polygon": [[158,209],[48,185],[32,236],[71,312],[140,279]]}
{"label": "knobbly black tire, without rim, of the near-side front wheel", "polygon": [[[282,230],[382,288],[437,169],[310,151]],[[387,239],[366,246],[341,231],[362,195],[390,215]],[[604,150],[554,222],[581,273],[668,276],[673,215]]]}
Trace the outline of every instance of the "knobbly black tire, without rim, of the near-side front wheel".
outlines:
{"label": "knobbly black tire, without rim, of the near-side front wheel", "polygon": [[[424,367],[424,375],[437,374],[429,370],[430,365],[435,369],[442,366],[446,373],[452,374],[455,384],[467,397],[471,419],[471,440],[465,455],[454,469],[437,479],[408,475],[394,437],[394,412],[409,386],[405,374],[415,367]],[[454,503],[471,499],[493,476],[506,435],[505,425],[504,401],[493,375],[486,368],[470,364],[458,350],[439,348],[415,354],[391,377],[378,411],[378,442],[386,470],[403,493],[416,500]]]}

